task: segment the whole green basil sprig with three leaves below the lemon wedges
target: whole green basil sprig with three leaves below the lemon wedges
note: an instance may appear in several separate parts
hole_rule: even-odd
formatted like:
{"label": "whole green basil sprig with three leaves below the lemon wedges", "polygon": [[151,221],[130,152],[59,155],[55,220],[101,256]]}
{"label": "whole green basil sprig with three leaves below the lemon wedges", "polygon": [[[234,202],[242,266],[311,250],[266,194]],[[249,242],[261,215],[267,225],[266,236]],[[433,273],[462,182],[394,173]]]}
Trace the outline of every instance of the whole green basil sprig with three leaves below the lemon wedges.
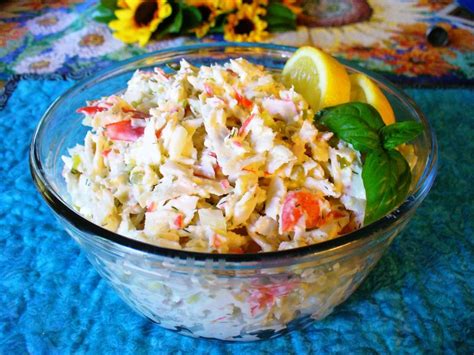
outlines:
{"label": "whole green basil sprig with three leaves below the lemon wedges", "polygon": [[338,138],[365,153],[364,224],[385,216],[405,200],[411,183],[410,167],[394,148],[416,137],[423,130],[420,124],[401,122],[385,126],[377,110],[362,102],[325,108],[315,115],[314,124],[329,128]]}

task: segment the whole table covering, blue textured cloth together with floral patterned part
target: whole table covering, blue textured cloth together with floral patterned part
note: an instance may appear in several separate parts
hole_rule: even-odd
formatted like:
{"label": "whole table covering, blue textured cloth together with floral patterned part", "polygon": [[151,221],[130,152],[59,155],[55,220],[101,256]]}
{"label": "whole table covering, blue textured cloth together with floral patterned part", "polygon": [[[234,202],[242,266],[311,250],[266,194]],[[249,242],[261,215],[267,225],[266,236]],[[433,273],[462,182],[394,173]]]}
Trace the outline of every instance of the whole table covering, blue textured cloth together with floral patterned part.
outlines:
{"label": "whole table covering, blue textured cloth together with floral patterned part", "polygon": [[[2,3],[0,353],[472,354],[474,40],[469,25],[448,24],[446,13],[454,11],[446,10],[448,3],[369,1],[373,13],[363,22],[301,27],[275,38],[333,45],[335,53],[367,60],[365,65],[402,84],[456,87],[407,89],[434,126],[440,164],[433,190],[406,231],[328,318],[253,344],[186,338],[133,313],[55,222],[29,174],[28,147],[39,116],[75,80],[119,59],[189,39],[125,47],[89,20],[90,2]],[[342,5],[318,21],[363,19],[364,13],[355,16]],[[451,42],[435,48],[424,32],[443,16]]]}

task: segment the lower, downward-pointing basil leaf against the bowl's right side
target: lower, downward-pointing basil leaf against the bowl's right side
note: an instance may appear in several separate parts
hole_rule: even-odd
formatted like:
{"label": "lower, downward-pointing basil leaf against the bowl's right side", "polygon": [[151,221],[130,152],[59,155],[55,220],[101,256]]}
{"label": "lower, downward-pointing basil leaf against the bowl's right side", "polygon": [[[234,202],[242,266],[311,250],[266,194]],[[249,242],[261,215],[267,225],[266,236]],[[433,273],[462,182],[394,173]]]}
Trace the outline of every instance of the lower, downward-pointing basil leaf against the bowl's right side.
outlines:
{"label": "lower, downward-pointing basil leaf against the bowl's right side", "polygon": [[396,150],[369,152],[362,168],[367,206],[364,224],[370,224],[400,205],[408,194],[411,172]]}

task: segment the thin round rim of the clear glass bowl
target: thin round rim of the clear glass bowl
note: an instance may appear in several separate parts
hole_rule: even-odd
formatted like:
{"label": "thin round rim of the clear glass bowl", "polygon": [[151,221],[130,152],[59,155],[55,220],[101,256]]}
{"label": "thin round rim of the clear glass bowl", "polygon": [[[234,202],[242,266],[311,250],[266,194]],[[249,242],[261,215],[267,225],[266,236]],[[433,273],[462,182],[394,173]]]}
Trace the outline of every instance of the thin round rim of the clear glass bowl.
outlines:
{"label": "thin round rim of the clear glass bowl", "polygon": [[203,253],[203,252],[193,252],[185,251],[178,249],[163,248],[156,245],[148,244],[138,240],[134,240],[120,234],[111,232],[105,228],[102,228],[93,222],[82,217],[77,213],[63,198],[59,193],[51,186],[48,182],[48,179],[42,168],[42,162],[39,155],[38,146],[40,144],[40,137],[42,132],[42,127],[44,122],[53,114],[56,107],[62,105],[67,98],[71,95],[74,95],[76,92],[80,91],[81,87],[86,86],[92,81],[99,80],[104,77],[108,77],[110,73],[119,70],[121,67],[128,65],[133,62],[138,62],[148,57],[154,57],[157,55],[164,55],[170,53],[188,53],[195,52],[203,49],[228,49],[228,48],[241,48],[241,49],[252,49],[258,48],[263,50],[273,50],[273,51],[286,51],[294,52],[298,47],[293,46],[284,46],[276,45],[270,43],[232,43],[232,42],[213,42],[213,43],[200,43],[192,45],[179,46],[172,49],[161,49],[151,53],[147,53],[141,56],[136,56],[125,61],[121,61],[107,69],[101,70],[96,74],[89,76],[78,83],[73,87],[64,92],[59,96],[46,110],[43,114],[41,120],[39,121],[36,130],[34,132],[32,142],[30,145],[29,161],[30,161],[30,171],[39,192],[46,200],[48,205],[61,217],[65,218],[69,223],[74,225],[79,230],[92,234],[95,237],[103,238],[113,243],[135,249],[137,251],[154,254],[157,256],[170,257],[170,258],[179,258],[179,259],[194,259],[196,261],[229,261],[233,263],[238,262],[263,262],[263,261],[278,261],[278,259],[288,259],[288,258],[297,258],[307,255],[316,255],[319,253],[325,253],[336,248],[346,246],[352,242],[363,240],[372,236],[376,233],[388,229],[398,220],[402,219],[407,213],[412,209],[416,208],[421,200],[424,199],[431,186],[433,185],[436,170],[437,170],[437,141],[434,131],[424,116],[424,114],[417,107],[415,102],[406,94],[402,92],[396,85],[388,82],[383,77],[374,74],[367,69],[363,69],[350,63],[343,59],[338,59],[345,66],[355,69],[357,71],[362,71],[367,73],[370,77],[375,79],[378,84],[382,84],[384,90],[389,91],[393,96],[397,97],[400,101],[406,103],[410,108],[412,108],[416,115],[418,115],[421,123],[425,127],[425,134],[428,136],[428,142],[430,146],[428,147],[428,160],[425,164],[425,168],[417,182],[417,185],[411,195],[407,197],[405,202],[400,205],[396,210],[392,211],[389,215],[379,219],[376,222],[373,222],[367,226],[364,226],[354,232],[349,234],[331,239],[322,243],[313,244],[305,247],[294,248],[289,250],[274,251],[274,252],[264,252],[264,253],[251,253],[251,254],[214,254],[214,253]]}

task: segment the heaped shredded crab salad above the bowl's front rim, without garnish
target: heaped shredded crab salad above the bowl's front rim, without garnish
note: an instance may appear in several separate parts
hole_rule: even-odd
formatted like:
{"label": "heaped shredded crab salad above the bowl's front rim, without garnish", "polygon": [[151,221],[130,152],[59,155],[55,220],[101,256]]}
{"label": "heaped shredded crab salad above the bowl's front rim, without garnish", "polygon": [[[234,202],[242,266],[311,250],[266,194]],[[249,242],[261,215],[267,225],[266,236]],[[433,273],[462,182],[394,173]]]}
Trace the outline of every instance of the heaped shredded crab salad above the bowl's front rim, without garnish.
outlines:
{"label": "heaped shredded crab salad above the bowl's front rim, without garnish", "polygon": [[361,225],[360,153],[312,123],[293,88],[244,59],[137,71],[79,109],[63,157],[79,212],[155,245],[246,253],[306,246]]}

